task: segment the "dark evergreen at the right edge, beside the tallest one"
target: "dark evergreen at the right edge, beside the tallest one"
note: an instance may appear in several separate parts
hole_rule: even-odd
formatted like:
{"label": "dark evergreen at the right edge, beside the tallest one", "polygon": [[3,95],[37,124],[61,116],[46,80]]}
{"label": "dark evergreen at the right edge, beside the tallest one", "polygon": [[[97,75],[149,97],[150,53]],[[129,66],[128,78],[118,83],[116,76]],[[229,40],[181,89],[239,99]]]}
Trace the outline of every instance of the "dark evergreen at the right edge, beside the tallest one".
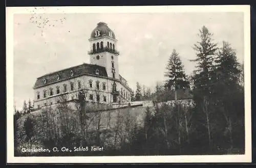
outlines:
{"label": "dark evergreen at the right edge, beside the tallest one", "polygon": [[241,108],[239,106],[243,106],[242,99],[240,98],[243,97],[243,93],[239,85],[240,64],[237,61],[236,52],[230,47],[228,42],[223,41],[223,46],[218,52],[216,63],[215,102],[219,107],[217,111],[225,119],[221,123],[222,127],[225,128],[223,130],[224,135],[227,136],[230,148],[233,148],[233,123],[238,123],[243,118],[244,110],[239,109]]}

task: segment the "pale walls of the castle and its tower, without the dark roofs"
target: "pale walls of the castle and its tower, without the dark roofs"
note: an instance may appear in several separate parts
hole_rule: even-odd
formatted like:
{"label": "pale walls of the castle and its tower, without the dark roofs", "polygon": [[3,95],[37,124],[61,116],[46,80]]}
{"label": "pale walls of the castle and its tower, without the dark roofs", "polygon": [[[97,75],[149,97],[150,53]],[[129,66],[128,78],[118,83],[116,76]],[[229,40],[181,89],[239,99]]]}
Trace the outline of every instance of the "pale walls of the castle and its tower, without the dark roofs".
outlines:
{"label": "pale walls of the castle and its tower, without the dark roofs", "polygon": [[[100,34],[100,31],[97,31],[96,33]],[[116,51],[117,40],[112,37],[112,31],[110,31],[108,32],[108,35],[89,39],[91,47],[91,51],[89,51],[90,65],[104,67],[108,77],[101,76],[97,73],[87,73],[74,76],[71,75],[68,78],[66,77],[63,79],[57,76],[58,80],[51,82],[47,82],[44,77],[37,78],[37,80],[43,80],[43,82],[45,80],[45,85],[34,87],[35,108],[56,104],[61,101],[60,99],[63,97],[65,97],[67,101],[78,99],[78,91],[81,89],[86,91],[86,101],[112,103],[116,102],[116,98],[123,102],[131,101],[132,90],[127,86],[127,81],[119,75],[119,53]],[[97,47],[100,47],[99,49],[101,50],[97,50]],[[111,49],[111,51],[108,49]],[[112,92],[114,81],[116,83],[116,90],[119,92],[119,95],[115,94],[117,95],[115,101]]]}

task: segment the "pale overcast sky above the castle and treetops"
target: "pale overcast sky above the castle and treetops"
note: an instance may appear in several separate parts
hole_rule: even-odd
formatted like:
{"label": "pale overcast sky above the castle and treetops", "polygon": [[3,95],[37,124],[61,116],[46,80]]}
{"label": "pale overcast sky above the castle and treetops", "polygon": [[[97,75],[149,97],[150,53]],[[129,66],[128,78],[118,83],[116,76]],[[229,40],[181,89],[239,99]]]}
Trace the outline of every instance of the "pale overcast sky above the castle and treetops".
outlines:
{"label": "pale overcast sky above the castle and treetops", "polygon": [[[33,17],[33,18],[32,18]],[[36,18],[37,17],[37,18]],[[196,57],[192,46],[205,25],[221,47],[228,41],[239,62],[244,57],[243,13],[141,13],[141,14],[15,14],[14,101],[33,100],[36,78],[53,71],[90,63],[88,51],[92,30],[103,21],[118,42],[119,73],[136,89],[136,82],[154,87],[163,81],[168,57],[179,52],[190,74]],[[44,20],[49,20],[44,23]],[[42,27],[42,25],[45,27]]]}

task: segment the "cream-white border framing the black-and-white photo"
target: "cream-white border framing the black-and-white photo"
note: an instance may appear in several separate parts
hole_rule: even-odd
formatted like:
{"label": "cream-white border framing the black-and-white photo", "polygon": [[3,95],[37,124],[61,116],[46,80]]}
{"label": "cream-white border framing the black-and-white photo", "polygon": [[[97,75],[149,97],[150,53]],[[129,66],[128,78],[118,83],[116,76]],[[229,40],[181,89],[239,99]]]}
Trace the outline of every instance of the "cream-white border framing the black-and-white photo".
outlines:
{"label": "cream-white border framing the black-and-white photo", "polygon": [[[21,13],[164,13],[243,12],[245,79],[245,154],[197,156],[73,156],[14,157],[13,135],[13,15]],[[251,162],[250,6],[122,6],[122,7],[7,7],[7,163],[198,163]]]}

